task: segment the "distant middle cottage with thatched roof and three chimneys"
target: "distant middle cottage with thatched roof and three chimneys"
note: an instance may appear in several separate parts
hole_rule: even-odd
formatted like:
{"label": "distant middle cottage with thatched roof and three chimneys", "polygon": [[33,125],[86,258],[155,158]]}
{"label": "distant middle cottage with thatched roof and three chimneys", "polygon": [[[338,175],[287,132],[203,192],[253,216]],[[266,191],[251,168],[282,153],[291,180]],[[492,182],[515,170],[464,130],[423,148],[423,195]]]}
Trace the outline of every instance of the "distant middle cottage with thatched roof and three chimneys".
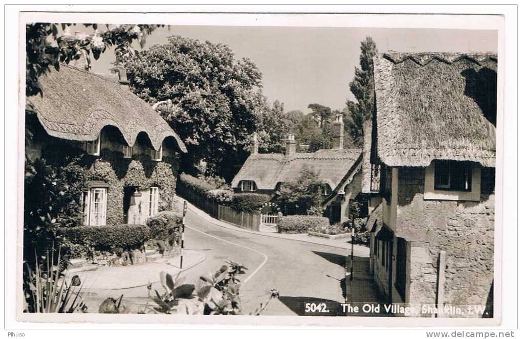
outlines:
{"label": "distant middle cottage with thatched roof and three chimneys", "polygon": [[289,135],[286,140],[284,154],[259,153],[254,135],[252,152],[232,180],[232,188],[235,192],[257,192],[274,196],[282,183],[297,179],[301,169],[307,166],[322,180],[325,216],[331,223],[347,221],[349,202],[361,192],[362,150],[343,149],[344,126],[341,114],[336,117],[333,126],[333,148],[311,153],[296,152],[293,135]]}

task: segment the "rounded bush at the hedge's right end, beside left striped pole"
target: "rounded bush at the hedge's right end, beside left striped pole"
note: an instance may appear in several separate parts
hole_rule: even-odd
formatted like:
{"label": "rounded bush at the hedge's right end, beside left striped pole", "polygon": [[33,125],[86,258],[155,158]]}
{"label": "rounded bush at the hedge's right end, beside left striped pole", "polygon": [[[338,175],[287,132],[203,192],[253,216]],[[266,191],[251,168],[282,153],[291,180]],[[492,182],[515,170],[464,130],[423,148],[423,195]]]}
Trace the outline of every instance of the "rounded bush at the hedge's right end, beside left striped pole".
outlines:
{"label": "rounded bush at the hedge's right end, beside left striped pole", "polygon": [[183,218],[174,212],[160,212],[147,220],[150,239],[162,240],[170,246],[179,243]]}

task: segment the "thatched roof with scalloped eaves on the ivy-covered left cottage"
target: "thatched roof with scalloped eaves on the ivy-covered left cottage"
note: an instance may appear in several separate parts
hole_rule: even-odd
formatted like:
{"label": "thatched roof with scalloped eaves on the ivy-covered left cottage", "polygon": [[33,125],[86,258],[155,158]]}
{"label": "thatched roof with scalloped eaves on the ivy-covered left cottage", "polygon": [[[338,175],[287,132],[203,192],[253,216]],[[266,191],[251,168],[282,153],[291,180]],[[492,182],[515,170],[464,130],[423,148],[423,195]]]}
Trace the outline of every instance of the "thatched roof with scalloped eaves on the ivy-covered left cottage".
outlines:
{"label": "thatched roof with scalloped eaves on the ivy-covered left cottage", "polygon": [[152,107],[121,84],[108,78],[61,65],[40,78],[43,96],[27,98],[49,135],[57,138],[94,140],[103,127],[118,128],[133,146],[140,132],[145,132],[155,150],[167,137],[179,148],[185,144]]}

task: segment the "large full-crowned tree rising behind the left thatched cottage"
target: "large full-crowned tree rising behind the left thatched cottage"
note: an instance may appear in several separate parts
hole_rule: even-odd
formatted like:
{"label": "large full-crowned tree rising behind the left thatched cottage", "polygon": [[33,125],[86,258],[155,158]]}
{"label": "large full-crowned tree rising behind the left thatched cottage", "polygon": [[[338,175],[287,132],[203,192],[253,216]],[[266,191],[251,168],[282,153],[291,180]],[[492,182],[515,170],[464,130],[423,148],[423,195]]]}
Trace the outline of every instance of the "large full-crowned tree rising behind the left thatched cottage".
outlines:
{"label": "large full-crowned tree rising behind the left thatched cottage", "polygon": [[169,100],[160,114],[185,142],[187,161],[207,161],[207,172],[230,180],[247,156],[265,108],[262,74],[227,45],[172,36],[168,42],[116,62],[131,89],[149,103]]}

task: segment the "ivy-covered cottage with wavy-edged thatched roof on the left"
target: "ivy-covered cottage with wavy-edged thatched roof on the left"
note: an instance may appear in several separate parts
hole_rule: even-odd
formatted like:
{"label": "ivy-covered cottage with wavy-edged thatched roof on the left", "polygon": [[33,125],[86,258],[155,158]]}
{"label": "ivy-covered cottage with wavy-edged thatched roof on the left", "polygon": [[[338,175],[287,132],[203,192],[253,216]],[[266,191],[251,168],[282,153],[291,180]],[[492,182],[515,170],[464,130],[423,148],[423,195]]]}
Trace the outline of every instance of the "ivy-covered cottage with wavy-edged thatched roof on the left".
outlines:
{"label": "ivy-covered cottage with wavy-edged thatched roof on the left", "polygon": [[[84,225],[140,224],[172,207],[185,145],[161,116],[112,80],[61,65],[27,98],[26,157],[68,166],[84,178]],[[78,185],[80,183],[72,183]]]}

